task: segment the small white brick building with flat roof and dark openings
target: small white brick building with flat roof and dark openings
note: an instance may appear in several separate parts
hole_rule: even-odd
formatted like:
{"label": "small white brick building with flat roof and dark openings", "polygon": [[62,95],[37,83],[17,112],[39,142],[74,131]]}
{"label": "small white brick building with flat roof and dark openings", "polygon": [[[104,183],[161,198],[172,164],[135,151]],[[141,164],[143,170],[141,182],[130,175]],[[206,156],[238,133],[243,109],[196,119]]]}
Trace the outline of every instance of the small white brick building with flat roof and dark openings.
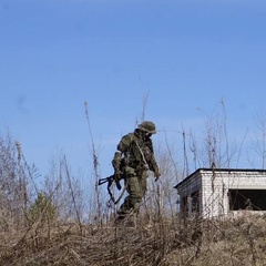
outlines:
{"label": "small white brick building with flat roof and dark openings", "polygon": [[266,170],[198,168],[180,182],[180,209],[204,218],[266,211]]}

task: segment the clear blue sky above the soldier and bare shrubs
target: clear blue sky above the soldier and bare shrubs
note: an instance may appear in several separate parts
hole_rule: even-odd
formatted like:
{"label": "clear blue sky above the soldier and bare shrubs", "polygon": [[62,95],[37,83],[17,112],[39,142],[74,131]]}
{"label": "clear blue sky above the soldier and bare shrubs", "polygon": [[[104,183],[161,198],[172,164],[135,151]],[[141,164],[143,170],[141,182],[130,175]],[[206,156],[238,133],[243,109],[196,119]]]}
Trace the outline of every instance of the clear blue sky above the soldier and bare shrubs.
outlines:
{"label": "clear blue sky above the soldier and bare shrubs", "polygon": [[103,175],[144,98],[155,145],[221,100],[241,142],[264,111],[265,28],[264,0],[0,0],[0,132],[42,175],[61,151],[91,172],[85,101]]}

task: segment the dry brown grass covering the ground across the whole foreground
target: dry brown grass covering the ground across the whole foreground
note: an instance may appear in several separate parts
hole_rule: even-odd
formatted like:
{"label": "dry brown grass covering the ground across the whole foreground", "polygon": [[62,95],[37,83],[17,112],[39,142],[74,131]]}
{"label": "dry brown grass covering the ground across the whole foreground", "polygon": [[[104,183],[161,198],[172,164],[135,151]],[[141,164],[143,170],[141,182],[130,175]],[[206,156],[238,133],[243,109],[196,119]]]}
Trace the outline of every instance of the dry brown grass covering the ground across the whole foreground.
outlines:
{"label": "dry brown grass covering the ground across the whole foreground", "polygon": [[0,265],[266,265],[266,217],[2,232]]}

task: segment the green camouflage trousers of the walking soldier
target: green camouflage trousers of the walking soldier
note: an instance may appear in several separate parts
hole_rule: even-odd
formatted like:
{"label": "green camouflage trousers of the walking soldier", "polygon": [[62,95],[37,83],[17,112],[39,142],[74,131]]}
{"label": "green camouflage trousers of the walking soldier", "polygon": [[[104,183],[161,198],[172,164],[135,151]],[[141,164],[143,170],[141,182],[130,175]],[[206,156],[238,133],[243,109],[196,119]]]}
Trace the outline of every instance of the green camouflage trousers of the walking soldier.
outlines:
{"label": "green camouflage trousers of the walking soldier", "polygon": [[129,195],[124,198],[117,214],[127,214],[131,211],[139,211],[140,203],[146,193],[147,171],[136,172],[132,167],[125,171],[125,187]]}

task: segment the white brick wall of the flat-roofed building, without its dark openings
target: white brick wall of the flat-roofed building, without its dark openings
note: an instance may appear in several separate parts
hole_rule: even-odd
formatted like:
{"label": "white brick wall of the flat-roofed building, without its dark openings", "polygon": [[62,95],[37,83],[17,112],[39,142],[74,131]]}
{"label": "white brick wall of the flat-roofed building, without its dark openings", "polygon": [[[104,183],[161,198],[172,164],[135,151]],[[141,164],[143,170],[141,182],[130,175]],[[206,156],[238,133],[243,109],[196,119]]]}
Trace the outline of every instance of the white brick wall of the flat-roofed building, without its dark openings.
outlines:
{"label": "white brick wall of the flat-roofed building, without its dark openings", "polygon": [[[197,170],[177,184],[182,197],[200,192],[200,214],[205,218],[229,214],[229,190],[266,190],[266,171]],[[266,195],[265,195],[266,196]]]}

